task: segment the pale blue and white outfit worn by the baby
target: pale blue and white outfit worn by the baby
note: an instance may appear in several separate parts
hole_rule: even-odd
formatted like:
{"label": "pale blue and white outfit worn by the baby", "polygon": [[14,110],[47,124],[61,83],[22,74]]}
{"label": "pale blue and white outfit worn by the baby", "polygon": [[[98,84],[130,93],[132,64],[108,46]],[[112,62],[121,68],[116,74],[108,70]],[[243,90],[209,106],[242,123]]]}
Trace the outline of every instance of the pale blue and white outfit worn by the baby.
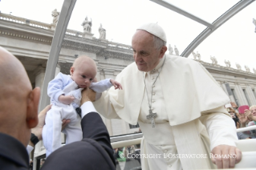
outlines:
{"label": "pale blue and white outfit worn by the baby", "polygon": [[[91,83],[91,89],[96,92],[103,92],[112,87],[110,79],[104,79],[97,83]],[[80,126],[81,118],[75,111],[80,106],[81,91],[78,85],[71,79],[70,75],[59,73],[55,79],[48,84],[47,93],[51,97],[51,110],[47,111],[45,125],[43,127],[43,144],[47,156],[61,147],[62,120],[70,119],[71,122],[63,129],[66,134],[66,144],[82,140],[83,133]],[[67,105],[59,102],[59,95],[74,96],[74,101]]]}

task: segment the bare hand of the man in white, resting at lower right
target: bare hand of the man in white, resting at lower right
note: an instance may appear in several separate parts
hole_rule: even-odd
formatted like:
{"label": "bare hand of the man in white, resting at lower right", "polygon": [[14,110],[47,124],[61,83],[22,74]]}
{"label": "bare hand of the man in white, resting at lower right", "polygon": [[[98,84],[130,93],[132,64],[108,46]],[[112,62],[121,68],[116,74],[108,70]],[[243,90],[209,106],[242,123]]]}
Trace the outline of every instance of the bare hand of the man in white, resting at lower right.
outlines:
{"label": "bare hand of the man in white, resting at lower right", "polygon": [[233,146],[221,144],[213,148],[211,159],[217,168],[234,168],[242,159],[242,152]]}

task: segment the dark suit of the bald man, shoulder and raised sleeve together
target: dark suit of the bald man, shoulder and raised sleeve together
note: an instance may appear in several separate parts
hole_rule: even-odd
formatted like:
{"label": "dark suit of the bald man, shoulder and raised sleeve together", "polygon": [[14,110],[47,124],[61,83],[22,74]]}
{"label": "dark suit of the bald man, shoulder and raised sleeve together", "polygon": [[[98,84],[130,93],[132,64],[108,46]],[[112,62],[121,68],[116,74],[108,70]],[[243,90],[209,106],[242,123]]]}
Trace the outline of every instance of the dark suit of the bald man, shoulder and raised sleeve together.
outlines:
{"label": "dark suit of the bald man, shoulder and raised sleeve together", "polygon": [[[88,113],[81,124],[83,140],[67,144],[51,153],[41,169],[116,169],[108,131],[100,115]],[[26,148],[12,136],[0,133],[0,170],[16,169],[29,169]]]}

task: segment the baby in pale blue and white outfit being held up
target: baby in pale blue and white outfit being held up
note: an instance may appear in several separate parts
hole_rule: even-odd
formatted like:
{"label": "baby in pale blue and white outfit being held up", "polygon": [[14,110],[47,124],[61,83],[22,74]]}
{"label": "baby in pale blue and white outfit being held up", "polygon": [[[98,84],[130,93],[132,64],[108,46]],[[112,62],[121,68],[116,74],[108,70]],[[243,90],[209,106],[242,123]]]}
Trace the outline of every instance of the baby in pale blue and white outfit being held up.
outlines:
{"label": "baby in pale blue and white outfit being held up", "polygon": [[52,107],[47,112],[46,124],[43,127],[43,144],[47,150],[47,156],[61,147],[60,132],[63,119],[71,120],[63,130],[63,133],[67,135],[66,144],[82,140],[81,118],[77,108],[80,106],[83,88],[90,87],[99,93],[112,86],[115,89],[122,89],[121,84],[114,79],[104,79],[92,83],[96,72],[97,69],[93,59],[87,56],[79,56],[71,67],[71,75],[59,73],[48,84],[47,93],[51,97]]}

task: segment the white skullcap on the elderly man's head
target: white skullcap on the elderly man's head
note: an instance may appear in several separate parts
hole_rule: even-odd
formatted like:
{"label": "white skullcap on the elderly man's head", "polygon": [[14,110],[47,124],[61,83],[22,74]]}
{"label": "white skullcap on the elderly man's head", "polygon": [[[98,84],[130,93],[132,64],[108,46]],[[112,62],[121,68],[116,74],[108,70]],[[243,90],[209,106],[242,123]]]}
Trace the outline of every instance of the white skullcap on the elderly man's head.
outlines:
{"label": "white skullcap on the elderly man's head", "polygon": [[146,30],[148,33],[155,35],[158,38],[161,38],[163,41],[167,42],[165,30],[157,23],[146,23],[142,26],[139,26],[137,30]]}

